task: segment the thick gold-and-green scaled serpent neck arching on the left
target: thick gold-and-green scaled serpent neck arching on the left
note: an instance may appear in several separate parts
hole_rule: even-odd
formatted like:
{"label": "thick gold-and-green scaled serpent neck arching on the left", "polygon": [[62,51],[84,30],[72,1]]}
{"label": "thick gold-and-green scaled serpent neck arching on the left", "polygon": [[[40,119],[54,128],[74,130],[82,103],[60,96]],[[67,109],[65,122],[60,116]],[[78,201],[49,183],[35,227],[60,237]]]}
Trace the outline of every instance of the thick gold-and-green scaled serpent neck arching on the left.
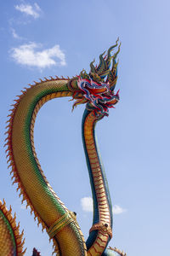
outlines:
{"label": "thick gold-and-green scaled serpent neck arching on the left", "polygon": [[44,176],[33,138],[35,119],[42,105],[53,98],[72,95],[67,79],[41,82],[23,92],[9,119],[8,160],[23,201],[26,200],[48,235],[53,231],[49,236],[53,238],[56,250],[65,256],[74,256],[75,252],[77,256],[85,256],[82,231]]}

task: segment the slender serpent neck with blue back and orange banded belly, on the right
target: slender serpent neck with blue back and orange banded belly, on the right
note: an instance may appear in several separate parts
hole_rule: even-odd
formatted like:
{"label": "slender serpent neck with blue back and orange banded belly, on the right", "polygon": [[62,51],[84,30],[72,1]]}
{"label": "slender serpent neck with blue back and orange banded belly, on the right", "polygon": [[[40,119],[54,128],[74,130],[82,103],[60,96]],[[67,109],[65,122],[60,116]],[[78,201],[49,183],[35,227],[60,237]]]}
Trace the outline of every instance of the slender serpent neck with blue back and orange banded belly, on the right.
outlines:
{"label": "slender serpent neck with blue back and orange banded belly, on the right", "polygon": [[[103,253],[111,238],[112,207],[108,183],[105,177],[104,166],[99,155],[99,148],[95,137],[95,125],[98,121],[94,112],[85,110],[82,117],[82,142],[86,154],[89,178],[94,200],[94,221],[88,236],[88,251],[93,250],[99,237],[102,237]],[[100,240],[99,243],[101,244]],[[101,254],[96,254],[101,255]]]}

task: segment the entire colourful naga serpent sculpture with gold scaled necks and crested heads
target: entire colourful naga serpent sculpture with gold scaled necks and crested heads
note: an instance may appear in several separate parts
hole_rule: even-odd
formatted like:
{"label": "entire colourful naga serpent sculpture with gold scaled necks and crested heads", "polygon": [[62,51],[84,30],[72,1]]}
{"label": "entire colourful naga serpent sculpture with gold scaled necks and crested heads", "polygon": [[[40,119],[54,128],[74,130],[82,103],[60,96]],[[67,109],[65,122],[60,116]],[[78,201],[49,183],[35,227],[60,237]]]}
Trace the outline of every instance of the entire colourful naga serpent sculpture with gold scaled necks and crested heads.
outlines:
{"label": "entire colourful naga serpent sculpture with gold scaled necks and crested heads", "polygon": [[[13,183],[18,184],[17,190],[23,196],[22,202],[26,201],[38,224],[42,224],[42,229],[47,230],[48,236],[53,239],[57,255],[116,255],[113,251],[125,255],[116,248],[106,249],[112,237],[111,197],[94,130],[97,121],[108,116],[108,109],[114,108],[119,101],[118,92],[115,94],[114,90],[117,79],[116,56],[120,45],[116,53],[111,55],[117,45],[118,39],[108,49],[107,55],[104,53],[99,56],[99,66],[94,67],[94,61],[91,62],[89,74],[82,70],[79,76],[72,79],[51,77],[41,79],[40,83],[30,84],[30,88],[22,90],[9,114],[5,145],[9,166],[12,167]],[[75,213],[65,207],[44,176],[34,147],[33,132],[38,110],[45,102],[65,96],[72,96],[72,99],[77,100],[73,108],[87,103],[82,117],[82,141],[94,199],[94,221],[86,242]],[[0,224],[0,231],[6,227],[9,234],[4,247],[10,247],[10,253],[5,254],[5,248],[0,246],[1,255],[24,255],[22,234],[19,235],[11,210],[6,209],[5,202],[0,202],[0,210],[0,216],[3,216],[0,218],[3,222]],[[7,244],[9,240],[11,241]],[[34,253],[38,255],[37,251]]]}

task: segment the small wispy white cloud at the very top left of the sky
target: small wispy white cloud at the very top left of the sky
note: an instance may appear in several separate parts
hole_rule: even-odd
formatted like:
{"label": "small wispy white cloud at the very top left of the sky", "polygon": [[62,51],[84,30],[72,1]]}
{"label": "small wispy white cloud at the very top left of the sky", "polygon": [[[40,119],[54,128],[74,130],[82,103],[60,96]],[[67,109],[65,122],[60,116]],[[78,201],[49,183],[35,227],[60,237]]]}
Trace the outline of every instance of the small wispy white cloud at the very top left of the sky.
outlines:
{"label": "small wispy white cloud at the very top left of the sky", "polygon": [[19,10],[21,13],[24,13],[26,15],[31,15],[35,19],[37,19],[40,16],[41,9],[37,3],[31,4],[25,4],[21,3],[20,5],[15,5],[15,9]]}

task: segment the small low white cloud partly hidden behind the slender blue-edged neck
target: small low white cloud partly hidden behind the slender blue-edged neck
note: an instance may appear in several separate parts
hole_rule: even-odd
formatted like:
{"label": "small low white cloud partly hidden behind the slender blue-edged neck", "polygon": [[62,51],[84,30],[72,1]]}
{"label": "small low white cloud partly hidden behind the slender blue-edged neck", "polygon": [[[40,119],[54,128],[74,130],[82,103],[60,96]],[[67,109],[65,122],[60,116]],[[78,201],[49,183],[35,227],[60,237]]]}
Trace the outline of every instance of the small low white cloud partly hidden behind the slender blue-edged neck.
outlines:
{"label": "small low white cloud partly hidden behind the slender blue-edged neck", "polygon": [[[91,196],[82,197],[81,206],[84,212],[93,212],[93,199]],[[121,214],[122,212],[126,212],[126,209],[123,209],[120,206],[115,205],[113,207],[113,214]]]}

